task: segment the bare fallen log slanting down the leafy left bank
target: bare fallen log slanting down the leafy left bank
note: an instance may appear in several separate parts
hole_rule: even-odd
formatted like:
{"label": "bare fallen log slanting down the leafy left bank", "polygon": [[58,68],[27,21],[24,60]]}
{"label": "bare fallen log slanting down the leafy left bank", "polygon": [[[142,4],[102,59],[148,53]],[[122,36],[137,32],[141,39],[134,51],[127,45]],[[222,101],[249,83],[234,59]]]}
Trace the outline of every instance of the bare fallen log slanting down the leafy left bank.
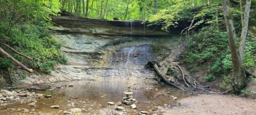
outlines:
{"label": "bare fallen log slanting down the leafy left bank", "polygon": [[1,47],[0,47],[0,54],[5,56],[7,59],[11,60],[13,63],[17,64],[19,67],[21,67],[23,70],[26,70],[27,72],[32,73],[33,71],[27,68],[25,65],[20,63],[18,60],[16,60],[14,57],[12,57],[10,54],[5,52]]}

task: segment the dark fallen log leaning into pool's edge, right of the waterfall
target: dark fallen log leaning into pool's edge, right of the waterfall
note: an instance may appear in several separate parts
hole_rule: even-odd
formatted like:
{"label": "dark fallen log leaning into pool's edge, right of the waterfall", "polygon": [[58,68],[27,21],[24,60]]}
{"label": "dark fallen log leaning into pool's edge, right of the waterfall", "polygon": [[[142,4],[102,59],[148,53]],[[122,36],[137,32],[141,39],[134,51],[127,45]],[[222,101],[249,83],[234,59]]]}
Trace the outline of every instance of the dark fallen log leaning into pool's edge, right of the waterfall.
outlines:
{"label": "dark fallen log leaning into pool's edge, right of the waterfall", "polygon": [[164,82],[167,84],[167,85],[171,85],[173,87],[176,87],[178,89],[181,89],[182,91],[186,91],[184,88],[176,85],[176,84],[173,84],[171,83],[165,76],[164,74],[159,70],[158,66],[156,63],[153,63],[151,61],[148,61],[148,65],[150,65],[150,67],[153,67],[155,69],[155,71],[157,72],[157,74],[164,80]]}

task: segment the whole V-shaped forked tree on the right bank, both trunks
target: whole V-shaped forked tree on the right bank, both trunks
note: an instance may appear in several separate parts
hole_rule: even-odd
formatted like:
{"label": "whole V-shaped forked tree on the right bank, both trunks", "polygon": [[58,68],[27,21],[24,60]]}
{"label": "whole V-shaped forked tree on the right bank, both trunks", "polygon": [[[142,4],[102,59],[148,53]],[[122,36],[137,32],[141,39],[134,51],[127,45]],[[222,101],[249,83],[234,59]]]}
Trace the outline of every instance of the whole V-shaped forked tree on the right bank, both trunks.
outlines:
{"label": "whole V-shaped forked tree on the right bank, both trunks", "polygon": [[241,42],[238,48],[236,43],[236,32],[233,24],[233,20],[231,18],[230,8],[228,6],[227,0],[222,0],[222,8],[223,14],[225,17],[227,32],[228,32],[228,40],[229,40],[229,48],[231,51],[232,57],[232,65],[233,65],[233,75],[231,77],[231,85],[234,88],[236,93],[239,93],[247,84],[246,76],[245,76],[245,68],[243,65],[244,59],[244,48],[245,48],[245,39],[247,35],[248,22],[249,22],[249,13],[250,13],[251,0],[246,1],[244,18],[242,20],[242,32],[241,32]]}

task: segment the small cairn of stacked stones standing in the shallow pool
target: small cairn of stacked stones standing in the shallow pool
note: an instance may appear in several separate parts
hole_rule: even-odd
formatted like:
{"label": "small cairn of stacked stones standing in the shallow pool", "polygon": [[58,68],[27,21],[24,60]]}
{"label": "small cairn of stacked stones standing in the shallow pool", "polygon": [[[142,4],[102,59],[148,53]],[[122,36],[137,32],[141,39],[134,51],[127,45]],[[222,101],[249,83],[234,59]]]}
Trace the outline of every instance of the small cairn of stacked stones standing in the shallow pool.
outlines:
{"label": "small cairn of stacked stones standing in the shallow pool", "polygon": [[122,102],[126,105],[132,105],[132,104],[136,103],[136,100],[132,96],[133,92],[132,92],[131,86],[128,86],[127,88],[128,88],[128,90],[124,92],[126,97],[123,97]]}

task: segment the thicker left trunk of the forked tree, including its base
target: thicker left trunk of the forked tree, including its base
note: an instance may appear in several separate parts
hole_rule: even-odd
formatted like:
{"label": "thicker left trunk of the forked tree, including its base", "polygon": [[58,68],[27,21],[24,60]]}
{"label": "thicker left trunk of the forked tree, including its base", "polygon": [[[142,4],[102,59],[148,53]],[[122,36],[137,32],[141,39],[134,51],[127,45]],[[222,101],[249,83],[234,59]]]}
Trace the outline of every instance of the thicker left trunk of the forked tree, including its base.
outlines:
{"label": "thicker left trunk of the forked tree, including its base", "polygon": [[[233,65],[233,76],[231,77],[231,85],[236,93],[239,93],[246,86],[245,69],[243,62],[239,55],[239,51],[236,44],[236,32],[233,25],[233,21],[230,15],[228,0],[222,0],[223,13],[226,21],[229,48],[231,51],[232,65]],[[249,0],[250,1],[250,0]]]}

